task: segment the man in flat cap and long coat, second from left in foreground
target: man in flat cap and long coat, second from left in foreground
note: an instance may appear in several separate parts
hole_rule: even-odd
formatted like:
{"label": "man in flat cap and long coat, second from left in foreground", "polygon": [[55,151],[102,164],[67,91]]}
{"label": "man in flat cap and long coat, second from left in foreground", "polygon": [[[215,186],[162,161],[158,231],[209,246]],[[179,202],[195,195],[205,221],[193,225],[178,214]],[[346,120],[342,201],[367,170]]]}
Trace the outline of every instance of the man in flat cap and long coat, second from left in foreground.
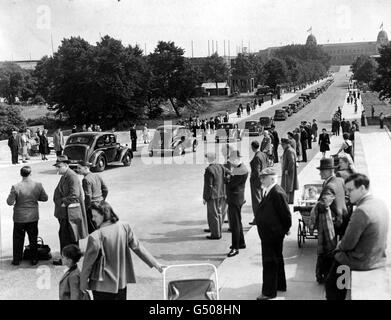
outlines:
{"label": "man in flat cap and long coat, second from left in foreground", "polygon": [[[54,216],[58,219],[60,230],[60,249],[68,244],[79,244],[79,240],[88,236],[87,217],[84,207],[83,191],[77,174],[69,168],[70,161],[65,155],[57,157],[54,166],[61,179],[54,190]],[[61,259],[53,261],[62,265]]]}

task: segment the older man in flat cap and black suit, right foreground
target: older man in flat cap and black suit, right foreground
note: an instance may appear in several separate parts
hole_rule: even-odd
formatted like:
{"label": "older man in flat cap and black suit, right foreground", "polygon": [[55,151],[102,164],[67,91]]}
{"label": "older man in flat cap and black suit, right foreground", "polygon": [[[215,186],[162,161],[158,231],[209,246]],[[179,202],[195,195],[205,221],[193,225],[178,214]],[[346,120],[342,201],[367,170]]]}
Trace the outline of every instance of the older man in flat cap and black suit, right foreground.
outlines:
{"label": "older man in flat cap and black suit, right foreground", "polygon": [[292,225],[288,199],[285,191],[277,184],[277,172],[266,168],[261,172],[265,196],[258,207],[256,222],[262,244],[263,285],[257,300],[273,299],[277,291],[286,291],[284,237]]}

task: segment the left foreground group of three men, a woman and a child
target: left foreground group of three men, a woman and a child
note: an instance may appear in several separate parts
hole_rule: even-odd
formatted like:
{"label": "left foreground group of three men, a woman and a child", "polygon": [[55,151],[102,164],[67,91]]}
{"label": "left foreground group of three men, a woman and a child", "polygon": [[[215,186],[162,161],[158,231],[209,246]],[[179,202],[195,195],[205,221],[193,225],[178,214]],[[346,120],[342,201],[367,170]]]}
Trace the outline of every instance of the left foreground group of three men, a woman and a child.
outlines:
{"label": "left foreground group of three men, a woman and a child", "polygon": [[[126,299],[127,283],[135,282],[130,250],[150,267],[160,272],[163,266],[141,245],[131,226],[119,221],[105,201],[108,188],[103,179],[90,172],[91,163],[80,161],[74,171],[70,161],[60,155],[54,166],[61,179],[53,194],[54,217],[59,222],[62,257],[54,265],[69,269],[59,284],[60,299],[94,300]],[[20,169],[22,180],[13,185],[7,204],[13,206],[13,259],[18,266],[23,258],[25,233],[30,243],[31,264],[38,263],[38,202],[48,201],[44,186],[31,178],[30,166]],[[77,173],[83,176],[80,183]],[[82,256],[79,241],[88,238],[81,271],[77,262]],[[88,290],[88,291],[87,291]]]}

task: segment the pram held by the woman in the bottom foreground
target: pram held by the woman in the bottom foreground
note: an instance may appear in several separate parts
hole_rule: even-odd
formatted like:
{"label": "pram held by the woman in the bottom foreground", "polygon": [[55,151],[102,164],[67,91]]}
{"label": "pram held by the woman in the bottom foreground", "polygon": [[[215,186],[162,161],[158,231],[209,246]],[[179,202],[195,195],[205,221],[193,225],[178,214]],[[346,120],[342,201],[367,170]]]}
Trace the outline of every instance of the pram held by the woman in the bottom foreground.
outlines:
{"label": "pram held by the woman in the bottom foreground", "polygon": [[[213,269],[209,278],[172,280],[167,285],[167,272],[172,269],[208,267]],[[214,279],[212,279],[214,278]],[[171,265],[163,271],[164,300],[218,300],[217,269],[210,263]]]}

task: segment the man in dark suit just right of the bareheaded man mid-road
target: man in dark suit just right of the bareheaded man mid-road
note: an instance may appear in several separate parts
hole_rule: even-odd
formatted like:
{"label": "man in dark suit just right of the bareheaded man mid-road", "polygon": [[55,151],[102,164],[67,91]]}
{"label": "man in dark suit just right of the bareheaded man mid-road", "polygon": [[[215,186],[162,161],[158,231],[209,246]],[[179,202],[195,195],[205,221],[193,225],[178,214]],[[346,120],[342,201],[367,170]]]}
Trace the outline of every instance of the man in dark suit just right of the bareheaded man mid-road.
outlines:
{"label": "man in dark suit just right of the bareheaded man mid-road", "polygon": [[231,225],[232,245],[228,257],[233,257],[239,254],[239,249],[244,249],[243,225],[242,225],[242,206],[244,200],[244,190],[248,177],[248,170],[242,163],[239,150],[234,150],[229,156],[232,164],[232,170],[226,175],[227,183],[227,203],[228,215]]}

